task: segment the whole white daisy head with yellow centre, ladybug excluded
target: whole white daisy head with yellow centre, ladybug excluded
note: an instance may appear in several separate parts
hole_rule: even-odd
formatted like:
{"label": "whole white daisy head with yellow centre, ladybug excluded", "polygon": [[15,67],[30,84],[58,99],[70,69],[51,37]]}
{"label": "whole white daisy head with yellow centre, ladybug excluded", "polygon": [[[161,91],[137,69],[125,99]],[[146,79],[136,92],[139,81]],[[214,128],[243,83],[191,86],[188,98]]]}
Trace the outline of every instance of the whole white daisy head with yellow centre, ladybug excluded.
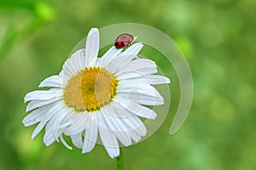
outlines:
{"label": "whole white daisy head with yellow centre, ladybug excluded", "polygon": [[112,47],[98,58],[99,31],[92,28],[85,48],[67,59],[59,75],[46,78],[39,88],[26,94],[32,111],[22,121],[26,127],[38,123],[32,139],[45,127],[44,144],[55,141],[72,149],[63,139],[90,152],[99,135],[110,157],[119,156],[119,142],[138,142],[147,130],[138,117],[154,119],[156,114],[143,105],[163,105],[164,99],[152,86],[169,83],[159,75],[150,59],[137,57],[143,48],[137,42],[125,51]]}

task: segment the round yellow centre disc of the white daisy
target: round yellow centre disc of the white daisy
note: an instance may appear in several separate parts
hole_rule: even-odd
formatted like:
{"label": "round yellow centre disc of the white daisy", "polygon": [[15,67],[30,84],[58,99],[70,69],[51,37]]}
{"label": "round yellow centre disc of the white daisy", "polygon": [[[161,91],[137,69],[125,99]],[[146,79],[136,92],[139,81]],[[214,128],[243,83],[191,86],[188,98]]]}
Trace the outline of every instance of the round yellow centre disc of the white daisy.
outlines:
{"label": "round yellow centre disc of the white daisy", "polygon": [[76,111],[96,111],[113,99],[117,80],[103,68],[85,68],[71,77],[64,91],[67,105]]}

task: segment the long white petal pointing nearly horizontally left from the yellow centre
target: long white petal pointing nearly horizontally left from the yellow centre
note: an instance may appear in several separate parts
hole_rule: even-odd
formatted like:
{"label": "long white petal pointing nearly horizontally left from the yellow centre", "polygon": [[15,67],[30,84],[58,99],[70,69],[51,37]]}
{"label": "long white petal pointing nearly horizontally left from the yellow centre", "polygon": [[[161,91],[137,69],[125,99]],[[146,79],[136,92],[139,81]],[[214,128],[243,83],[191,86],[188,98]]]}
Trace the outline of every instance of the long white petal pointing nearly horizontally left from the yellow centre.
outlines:
{"label": "long white petal pointing nearly horizontally left from the yellow centre", "polygon": [[35,90],[26,94],[24,102],[30,100],[49,100],[60,98],[63,95],[61,88],[55,88],[54,90]]}

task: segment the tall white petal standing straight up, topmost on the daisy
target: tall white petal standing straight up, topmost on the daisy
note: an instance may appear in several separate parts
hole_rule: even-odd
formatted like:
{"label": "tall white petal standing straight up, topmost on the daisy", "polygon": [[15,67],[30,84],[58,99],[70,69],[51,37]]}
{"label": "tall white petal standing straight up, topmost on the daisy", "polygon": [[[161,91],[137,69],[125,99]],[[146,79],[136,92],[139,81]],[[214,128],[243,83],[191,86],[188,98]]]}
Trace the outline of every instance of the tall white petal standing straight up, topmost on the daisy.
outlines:
{"label": "tall white petal standing straight up, topmost on the daisy", "polygon": [[85,44],[85,65],[94,66],[100,48],[100,34],[97,28],[90,29]]}

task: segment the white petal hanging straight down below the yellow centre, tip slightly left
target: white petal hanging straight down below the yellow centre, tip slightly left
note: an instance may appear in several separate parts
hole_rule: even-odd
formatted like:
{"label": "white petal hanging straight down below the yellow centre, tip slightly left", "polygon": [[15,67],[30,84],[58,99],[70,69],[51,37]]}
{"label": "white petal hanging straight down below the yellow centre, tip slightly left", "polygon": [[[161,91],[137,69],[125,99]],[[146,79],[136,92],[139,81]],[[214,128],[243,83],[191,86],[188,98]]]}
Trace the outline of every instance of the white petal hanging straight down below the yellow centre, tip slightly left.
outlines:
{"label": "white petal hanging straight down below the yellow centre, tip slightly left", "polygon": [[84,135],[84,145],[82,153],[90,152],[90,150],[92,150],[96,144],[96,139],[98,136],[96,113],[89,114],[85,128],[86,130]]}

